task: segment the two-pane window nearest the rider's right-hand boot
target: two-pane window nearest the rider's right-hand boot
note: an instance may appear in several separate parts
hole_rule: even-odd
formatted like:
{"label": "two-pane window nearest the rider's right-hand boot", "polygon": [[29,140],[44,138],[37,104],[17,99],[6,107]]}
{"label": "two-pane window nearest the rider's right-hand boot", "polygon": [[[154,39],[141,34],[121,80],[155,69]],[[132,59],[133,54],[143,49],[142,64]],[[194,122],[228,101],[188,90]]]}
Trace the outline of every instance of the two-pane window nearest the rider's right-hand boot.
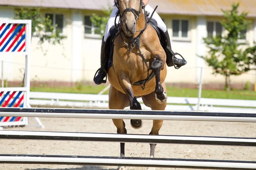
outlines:
{"label": "two-pane window nearest the rider's right-hand boot", "polygon": [[189,37],[189,21],[188,20],[172,20],[172,36],[179,38]]}

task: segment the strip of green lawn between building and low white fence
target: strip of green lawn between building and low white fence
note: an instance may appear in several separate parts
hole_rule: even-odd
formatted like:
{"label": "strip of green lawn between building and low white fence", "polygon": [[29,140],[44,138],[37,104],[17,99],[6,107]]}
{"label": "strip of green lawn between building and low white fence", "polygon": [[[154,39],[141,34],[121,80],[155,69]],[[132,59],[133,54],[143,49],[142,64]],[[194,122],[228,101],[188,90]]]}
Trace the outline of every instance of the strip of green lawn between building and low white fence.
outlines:
{"label": "strip of green lawn between building and low white fence", "polygon": [[[99,86],[79,86],[79,87],[31,87],[32,92],[63,92],[63,93],[83,93],[83,94],[98,94],[104,85]],[[198,89],[178,89],[167,87],[168,96],[173,97],[198,97]],[[108,91],[104,94],[108,94]],[[226,98],[226,99],[241,99],[241,100],[256,100],[256,92],[236,90],[230,93],[218,90],[202,90],[202,98]]]}

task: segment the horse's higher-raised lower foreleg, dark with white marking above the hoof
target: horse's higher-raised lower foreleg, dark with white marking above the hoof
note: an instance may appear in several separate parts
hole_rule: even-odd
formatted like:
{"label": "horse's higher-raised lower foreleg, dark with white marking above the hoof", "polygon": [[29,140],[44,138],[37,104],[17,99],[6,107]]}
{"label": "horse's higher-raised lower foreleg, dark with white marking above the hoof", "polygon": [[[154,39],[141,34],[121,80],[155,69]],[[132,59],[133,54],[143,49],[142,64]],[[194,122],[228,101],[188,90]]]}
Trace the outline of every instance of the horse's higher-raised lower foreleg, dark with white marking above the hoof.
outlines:
{"label": "horse's higher-raised lower foreleg, dark with white marking above the hoof", "polygon": [[156,89],[155,89],[155,98],[157,103],[162,104],[167,100],[166,92],[163,90],[163,86],[161,84],[160,72],[163,67],[163,62],[161,59],[155,55],[153,61],[151,62],[151,68],[155,74],[156,78]]}

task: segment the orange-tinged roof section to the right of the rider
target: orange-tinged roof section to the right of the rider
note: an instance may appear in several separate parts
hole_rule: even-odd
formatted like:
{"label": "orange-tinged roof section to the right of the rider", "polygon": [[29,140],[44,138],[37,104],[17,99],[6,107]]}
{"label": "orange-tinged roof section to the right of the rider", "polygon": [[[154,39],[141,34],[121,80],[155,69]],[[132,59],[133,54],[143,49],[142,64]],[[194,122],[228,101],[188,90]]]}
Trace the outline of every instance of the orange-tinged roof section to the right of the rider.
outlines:
{"label": "orange-tinged roof section to the right of the rider", "polygon": [[256,0],[150,0],[153,8],[158,5],[158,13],[222,16],[221,9],[230,10],[232,3],[239,2],[239,12],[248,12],[248,17],[256,17]]}

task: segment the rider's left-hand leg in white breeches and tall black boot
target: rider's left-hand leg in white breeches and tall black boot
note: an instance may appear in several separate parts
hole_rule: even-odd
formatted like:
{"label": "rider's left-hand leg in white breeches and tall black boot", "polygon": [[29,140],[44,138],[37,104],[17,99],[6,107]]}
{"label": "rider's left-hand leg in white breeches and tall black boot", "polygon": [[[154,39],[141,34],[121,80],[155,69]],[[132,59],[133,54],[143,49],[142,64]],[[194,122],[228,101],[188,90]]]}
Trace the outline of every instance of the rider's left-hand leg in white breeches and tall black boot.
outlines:
{"label": "rider's left-hand leg in white breeches and tall black boot", "polygon": [[[103,80],[103,79],[107,76],[107,71],[106,71],[105,67],[107,66],[107,63],[108,63],[108,57],[104,54],[104,46],[105,46],[106,40],[110,36],[110,29],[115,24],[115,18],[116,18],[117,11],[118,11],[118,9],[116,8],[116,6],[114,6],[111,16],[108,19],[108,23],[107,23],[106,30],[105,30],[105,35],[102,38],[100,68],[97,70],[98,74],[93,78],[93,81],[95,84],[106,83],[106,80]],[[118,19],[119,18],[117,18],[117,22],[118,22]]]}

